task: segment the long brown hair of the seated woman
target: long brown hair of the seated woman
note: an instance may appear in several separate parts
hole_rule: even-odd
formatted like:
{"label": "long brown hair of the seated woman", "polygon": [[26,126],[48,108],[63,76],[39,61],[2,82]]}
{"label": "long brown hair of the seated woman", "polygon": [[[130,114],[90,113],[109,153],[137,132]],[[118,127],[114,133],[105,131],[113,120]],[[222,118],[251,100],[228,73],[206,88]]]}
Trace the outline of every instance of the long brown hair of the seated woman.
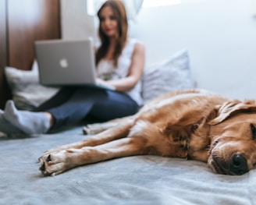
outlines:
{"label": "long brown hair of the seated woman", "polygon": [[[128,31],[128,21],[126,16],[126,9],[123,5],[123,2],[120,0],[108,0],[103,5],[101,5],[101,8],[98,10],[98,19],[101,18],[101,10],[105,8],[106,6],[109,6],[112,8],[114,12],[114,16],[116,16],[117,25],[118,25],[118,34],[119,36],[116,39],[116,48],[115,52],[113,54],[113,62],[114,65],[117,66],[118,58],[121,55],[123,48],[126,44],[127,39],[127,31]],[[109,39],[108,36],[106,36],[103,31],[101,30],[101,27],[98,29],[98,35],[101,40],[101,46],[98,48],[98,51],[96,51],[96,65],[98,65],[98,62],[101,61],[102,58],[105,57],[105,55],[108,52],[109,47]]]}

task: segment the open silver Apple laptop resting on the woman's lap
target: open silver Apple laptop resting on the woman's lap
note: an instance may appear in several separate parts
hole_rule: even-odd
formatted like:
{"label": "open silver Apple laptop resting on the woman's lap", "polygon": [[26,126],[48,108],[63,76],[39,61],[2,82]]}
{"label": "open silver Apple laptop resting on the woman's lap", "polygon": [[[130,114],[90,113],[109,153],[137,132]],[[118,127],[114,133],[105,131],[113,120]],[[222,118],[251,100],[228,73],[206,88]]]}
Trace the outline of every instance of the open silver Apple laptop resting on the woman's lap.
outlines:
{"label": "open silver Apple laptop resting on the woman's lap", "polygon": [[92,38],[84,40],[35,41],[39,82],[48,87],[93,86],[114,90],[96,83]]}

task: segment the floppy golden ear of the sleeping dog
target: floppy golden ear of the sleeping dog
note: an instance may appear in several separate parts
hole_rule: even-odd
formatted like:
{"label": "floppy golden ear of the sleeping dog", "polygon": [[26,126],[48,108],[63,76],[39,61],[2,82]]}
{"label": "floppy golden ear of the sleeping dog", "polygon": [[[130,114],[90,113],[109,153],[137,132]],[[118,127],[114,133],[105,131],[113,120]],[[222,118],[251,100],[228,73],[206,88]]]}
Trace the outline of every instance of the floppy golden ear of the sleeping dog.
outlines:
{"label": "floppy golden ear of the sleeping dog", "polygon": [[210,125],[217,125],[239,112],[256,111],[256,101],[227,101],[222,106],[219,106],[219,108],[216,107],[216,109],[218,109],[217,117],[208,123]]}

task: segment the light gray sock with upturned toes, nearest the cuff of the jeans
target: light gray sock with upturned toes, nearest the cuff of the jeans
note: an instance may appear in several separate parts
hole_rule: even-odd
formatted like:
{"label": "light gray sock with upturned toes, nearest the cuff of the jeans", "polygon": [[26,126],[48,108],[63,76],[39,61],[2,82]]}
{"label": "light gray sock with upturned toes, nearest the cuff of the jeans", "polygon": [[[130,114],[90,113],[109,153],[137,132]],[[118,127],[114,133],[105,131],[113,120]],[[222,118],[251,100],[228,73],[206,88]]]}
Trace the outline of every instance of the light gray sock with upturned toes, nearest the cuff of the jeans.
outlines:
{"label": "light gray sock with upturned toes, nearest the cuff of the jeans", "polygon": [[47,133],[50,129],[50,120],[44,112],[19,111],[13,101],[6,102],[4,116],[27,134]]}

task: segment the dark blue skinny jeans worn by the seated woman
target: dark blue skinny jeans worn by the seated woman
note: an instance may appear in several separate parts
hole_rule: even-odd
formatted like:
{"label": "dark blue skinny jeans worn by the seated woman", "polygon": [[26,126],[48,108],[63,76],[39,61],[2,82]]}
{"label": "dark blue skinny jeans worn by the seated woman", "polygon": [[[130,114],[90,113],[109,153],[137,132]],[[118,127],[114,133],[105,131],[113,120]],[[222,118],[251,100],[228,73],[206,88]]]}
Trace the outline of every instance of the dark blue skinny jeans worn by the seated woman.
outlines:
{"label": "dark blue skinny jeans worn by the seated woman", "polygon": [[73,125],[88,116],[108,121],[135,114],[138,104],[122,92],[97,87],[63,87],[36,111],[48,111],[54,118],[52,129]]}

